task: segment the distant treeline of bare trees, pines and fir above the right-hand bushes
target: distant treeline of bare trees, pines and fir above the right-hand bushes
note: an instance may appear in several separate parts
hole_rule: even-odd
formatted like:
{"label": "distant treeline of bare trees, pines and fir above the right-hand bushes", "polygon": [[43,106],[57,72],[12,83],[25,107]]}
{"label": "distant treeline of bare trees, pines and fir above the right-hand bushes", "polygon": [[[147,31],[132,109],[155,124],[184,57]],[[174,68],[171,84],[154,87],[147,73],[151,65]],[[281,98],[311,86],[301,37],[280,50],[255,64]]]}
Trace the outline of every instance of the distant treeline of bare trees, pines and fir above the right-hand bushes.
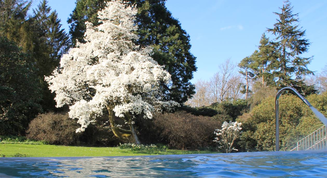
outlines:
{"label": "distant treeline of bare trees, pines and fir above the right-hand bushes", "polygon": [[263,33],[258,49],[251,55],[237,65],[227,59],[209,81],[198,80],[196,94],[186,104],[200,107],[225,100],[248,99],[265,87],[279,90],[290,86],[304,96],[326,91],[326,69],[317,75],[308,69],[313,56],[303,57],[303,54],[308,51],[310,42],[299,25],[298,14],[292,9],[285,1],[281,12],[274,12],[277,22],[266,31],[274,38],[269,39]]}

